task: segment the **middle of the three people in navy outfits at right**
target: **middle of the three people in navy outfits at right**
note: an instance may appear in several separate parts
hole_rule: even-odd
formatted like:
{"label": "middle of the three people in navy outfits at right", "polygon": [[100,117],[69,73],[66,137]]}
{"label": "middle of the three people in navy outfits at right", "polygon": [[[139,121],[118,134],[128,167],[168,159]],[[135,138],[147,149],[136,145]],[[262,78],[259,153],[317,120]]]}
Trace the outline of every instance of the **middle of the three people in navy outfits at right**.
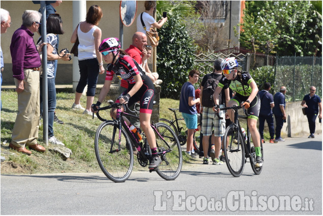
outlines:
{"label": "middle of the three people in navy outfits at right", "polygon": [[286,121],[286,102],[285,102],[286,87],[281,86],[279,92],[274,96],[275,106],[273,108],[273,113],[276,119],[276,141],[284,142],[285,140],[281,138],[280,132],[283,128],[284,121]]}

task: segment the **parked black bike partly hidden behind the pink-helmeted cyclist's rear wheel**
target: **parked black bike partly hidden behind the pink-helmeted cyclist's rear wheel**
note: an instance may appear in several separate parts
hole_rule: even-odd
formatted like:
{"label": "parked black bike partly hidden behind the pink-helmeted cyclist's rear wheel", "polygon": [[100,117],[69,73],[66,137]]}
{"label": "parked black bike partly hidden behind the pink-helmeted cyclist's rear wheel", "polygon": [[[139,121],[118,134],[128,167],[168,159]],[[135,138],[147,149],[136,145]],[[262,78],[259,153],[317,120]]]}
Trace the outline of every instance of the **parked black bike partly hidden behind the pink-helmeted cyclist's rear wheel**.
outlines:
{"label": "parked black bike partly hidden behind the pink-helmeted cyclist's rear wheel", "polygon": [[[183,127],[179,126],[179,121],[184,120],[184,118],[177,117],[176,111],[178,111],[179,109],[172,109],[172,108],[168,108],[168,109],[174,113],[175,119],[168,120],[165,118],[160,118],[159,120],[162,122],[166,122],[166,124],[168,124],[171,127],[171,129],[173,129],[175,134],[177,134],[177,137],[179,138],[181,145],[185,145],[185,143],[187,141],[187,129],[185,130]],[[175,124],[176,124],[176,126],[175,126]],[[195,140],[195,132],[193,135],[193,146],[194,146],[194,150],[197,153],[199,153],[199,148],[196,145],[196,140]]]}

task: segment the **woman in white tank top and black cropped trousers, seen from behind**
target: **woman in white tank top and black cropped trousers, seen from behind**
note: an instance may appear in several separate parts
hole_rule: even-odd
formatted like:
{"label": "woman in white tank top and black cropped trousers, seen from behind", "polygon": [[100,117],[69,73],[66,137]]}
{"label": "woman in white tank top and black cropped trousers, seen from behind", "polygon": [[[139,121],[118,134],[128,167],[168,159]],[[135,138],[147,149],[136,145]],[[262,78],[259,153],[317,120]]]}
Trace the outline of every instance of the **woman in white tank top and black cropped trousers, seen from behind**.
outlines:
{"label": "woman in white tank top and black cropped trousers, seen from behind", "polygon": [[[104,73],[102,55],[99,52],[101,43],[101,29],[97,26],[103,16],[102,10],[97,5],[92,5],[87,11],[86,20],[80,22],[71,37],[71,43],[75,43],[77,37],[78,66],[80,68],[80,79],[76,87],[75,102],[73,110],[84,110],[83,114],[90,114],[93,104],[95,89],[99,74]],[[86,109],[80,105],[83,90],[87,84]]]}

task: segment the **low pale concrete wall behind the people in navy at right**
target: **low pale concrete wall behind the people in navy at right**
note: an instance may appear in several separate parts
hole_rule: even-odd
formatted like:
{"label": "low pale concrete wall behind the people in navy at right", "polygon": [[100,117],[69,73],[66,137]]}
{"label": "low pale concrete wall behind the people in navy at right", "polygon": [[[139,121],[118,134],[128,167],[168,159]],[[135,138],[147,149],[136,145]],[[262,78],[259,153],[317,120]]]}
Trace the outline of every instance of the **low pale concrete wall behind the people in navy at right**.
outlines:
{"label": "low pale concrete wall behind the people in navy at right", "polygon": [[[303,115],[301,101],[286,104],[287,120],[281,130],[282,137],[307,137],[310,133],[306,115]],[[275,119],[275,117],[274,117]],[[259,122],[258,122],[259,124]],[[274,120],[276,128],[276,121]],[[316,118],[315,134],[322,133],[322,124]],[[268,125],[265,122],[265,132],[268,132]]]}

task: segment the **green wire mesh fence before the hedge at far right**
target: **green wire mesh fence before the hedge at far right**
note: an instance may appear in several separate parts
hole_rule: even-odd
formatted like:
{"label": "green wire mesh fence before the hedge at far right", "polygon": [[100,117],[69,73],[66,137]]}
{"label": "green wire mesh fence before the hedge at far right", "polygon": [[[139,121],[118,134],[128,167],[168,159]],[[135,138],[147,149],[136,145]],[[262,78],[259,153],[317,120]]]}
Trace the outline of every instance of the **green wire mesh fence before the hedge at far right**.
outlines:
{"label": "green wire mesh fence before the hedge at far right", "polygon": [[309,94],[310,86],[322,98],[322,57],[276,57],[274,91],[286,86],[286,101],[302,101]]}

